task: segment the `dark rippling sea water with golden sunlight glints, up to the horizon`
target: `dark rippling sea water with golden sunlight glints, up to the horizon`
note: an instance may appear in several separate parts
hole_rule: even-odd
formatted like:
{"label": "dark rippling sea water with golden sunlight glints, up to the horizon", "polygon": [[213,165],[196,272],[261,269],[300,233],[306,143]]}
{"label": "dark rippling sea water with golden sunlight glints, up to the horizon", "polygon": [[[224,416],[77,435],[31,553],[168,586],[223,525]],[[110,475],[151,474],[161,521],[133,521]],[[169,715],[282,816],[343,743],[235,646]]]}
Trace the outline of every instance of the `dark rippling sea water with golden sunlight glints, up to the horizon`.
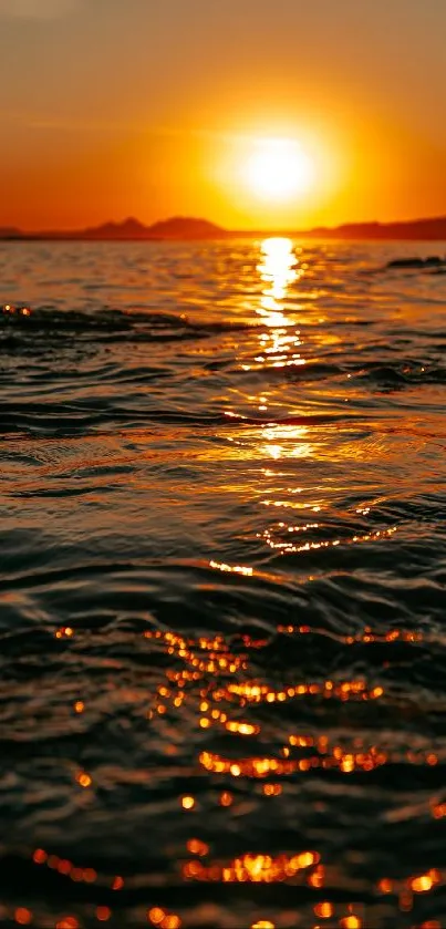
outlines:
{"label": "dark rippling sea water with golden sunlight glints, up to the horizon", "polygon": [[446,926],[437,248],[0,247],[2,925]]}

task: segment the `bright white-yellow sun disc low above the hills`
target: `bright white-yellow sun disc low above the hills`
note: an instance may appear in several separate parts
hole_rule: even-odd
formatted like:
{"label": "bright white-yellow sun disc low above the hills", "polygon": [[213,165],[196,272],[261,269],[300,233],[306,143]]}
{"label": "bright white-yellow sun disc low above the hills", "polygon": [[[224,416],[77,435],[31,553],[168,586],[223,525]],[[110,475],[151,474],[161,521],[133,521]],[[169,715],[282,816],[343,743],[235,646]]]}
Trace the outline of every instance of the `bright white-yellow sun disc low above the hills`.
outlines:
{"label": "bright white-yellow sun disc low above the hills", "polygon": [[248,158],[245,183],[266,200],[290,200],[305,194],[314,182],[314,164],[291,138],[262,138]]}

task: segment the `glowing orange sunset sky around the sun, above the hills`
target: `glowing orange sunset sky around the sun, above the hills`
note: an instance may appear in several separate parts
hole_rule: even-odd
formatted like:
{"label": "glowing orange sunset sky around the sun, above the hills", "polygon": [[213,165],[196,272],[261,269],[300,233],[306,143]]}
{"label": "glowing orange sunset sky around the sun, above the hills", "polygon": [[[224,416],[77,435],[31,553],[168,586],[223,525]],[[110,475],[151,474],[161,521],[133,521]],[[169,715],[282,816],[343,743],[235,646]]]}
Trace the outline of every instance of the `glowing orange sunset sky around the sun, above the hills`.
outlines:
{"label": "glowing orange sunset sky around the sun, above the hills", "polygon": [[[445,0],[0,0],[0,225],[446,214]],[[298,141],[311,190],[243,166]]]}

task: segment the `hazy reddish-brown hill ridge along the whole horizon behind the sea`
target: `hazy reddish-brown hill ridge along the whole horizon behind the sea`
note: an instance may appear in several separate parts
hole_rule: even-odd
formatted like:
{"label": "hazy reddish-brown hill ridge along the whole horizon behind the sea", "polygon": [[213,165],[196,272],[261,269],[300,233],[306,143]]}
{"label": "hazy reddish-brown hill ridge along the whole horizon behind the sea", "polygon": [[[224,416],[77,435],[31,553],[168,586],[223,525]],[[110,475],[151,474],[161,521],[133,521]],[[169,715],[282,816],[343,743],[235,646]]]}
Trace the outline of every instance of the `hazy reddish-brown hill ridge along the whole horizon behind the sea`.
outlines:
{"label": "hazy reddish-brown hill ridge along the whole horizon behind the sea", "polygon": [[446,216],[426,219],[413,219],[400,223],[345,223],[333,228],[320,226],[314,229],[297,230],[246,230],[230,231],[209,223],[208,219],[197,219],[189,216],[173,216],[145,226],[139,219],[128,217],[122,223],[104,223],[86,229],[45,230],[27,233],[14,227],[0,227],[0,239],[7,240],[81,240],[81,241],[127,241],[146,239],[226,239],[251,238],[253,236],[287,235],[294,238],[334,238],[334,239],[418,239],[446,241]]}

